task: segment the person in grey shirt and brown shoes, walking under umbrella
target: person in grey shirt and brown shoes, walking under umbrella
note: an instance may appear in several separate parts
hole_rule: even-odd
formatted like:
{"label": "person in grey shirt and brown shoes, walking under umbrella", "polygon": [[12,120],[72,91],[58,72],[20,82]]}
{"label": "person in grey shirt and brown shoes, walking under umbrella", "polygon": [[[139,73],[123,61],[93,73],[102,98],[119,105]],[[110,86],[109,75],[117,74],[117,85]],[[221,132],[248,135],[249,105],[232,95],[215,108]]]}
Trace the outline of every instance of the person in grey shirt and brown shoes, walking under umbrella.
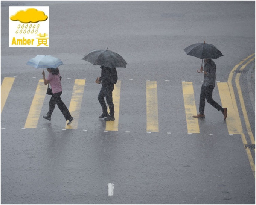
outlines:
{"label": "person in grey shirt and brown shoes, walking under umbrella", "polygon": [[206,58],[204,59],[204,69],[203,66],[200,68],[200,72],[204,74],[204,81],[201,87],[200,93],[200,102],[199,102],[199,114],[194,115],[195,118],[205,118],[204,115],[204,106],[205,99],[207,102],[216,108],[218,111],[221,111],[224,115],[224,120],[227,118],[227,108],[222,108],[218,103],[216,103],[212,99],[212,91],[215,87],[215,79],[216,79],[216,64],[212,59]]}

